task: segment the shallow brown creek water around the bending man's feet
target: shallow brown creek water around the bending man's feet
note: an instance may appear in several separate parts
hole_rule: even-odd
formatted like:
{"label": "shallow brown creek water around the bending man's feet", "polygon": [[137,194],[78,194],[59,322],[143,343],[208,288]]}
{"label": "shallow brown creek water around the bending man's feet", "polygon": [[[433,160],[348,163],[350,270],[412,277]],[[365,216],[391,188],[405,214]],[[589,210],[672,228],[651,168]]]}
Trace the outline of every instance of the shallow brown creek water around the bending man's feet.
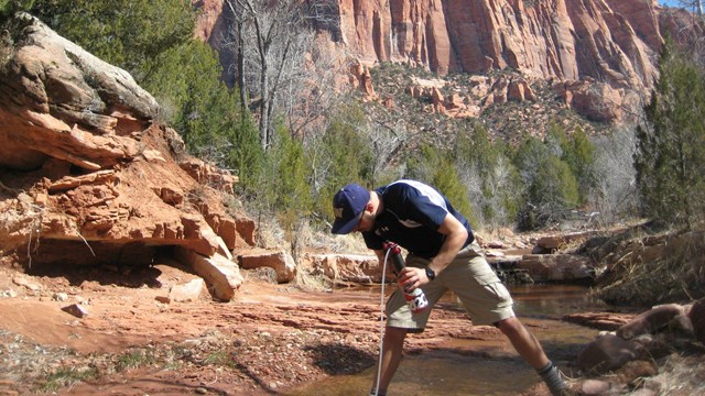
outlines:
{"label": "shallow brown creek water around the bending man's feet", "polygon": [[[561,321],[566,314],[604,309],[582,286],[529,285],[511,287],[514,310],[541,341],[549,358],[565,365],[590,342],[597,330]],[[370,293],[369,289],[362,293]],[[379,292],[378,292],[379,293]],[[444,297],[453,302],[455,297]],[[471,351],[482,351],[473,353]],[[469,351],[469,352],[468,352]],[[489,358],[488,358],[489,356]],[[376,367],[339,375],[283,393],[304,395],[367,395]],[[392,380],[392,395],[517,395],[540,381],[508,341],[449,340],[442,348],[406,354]]]}

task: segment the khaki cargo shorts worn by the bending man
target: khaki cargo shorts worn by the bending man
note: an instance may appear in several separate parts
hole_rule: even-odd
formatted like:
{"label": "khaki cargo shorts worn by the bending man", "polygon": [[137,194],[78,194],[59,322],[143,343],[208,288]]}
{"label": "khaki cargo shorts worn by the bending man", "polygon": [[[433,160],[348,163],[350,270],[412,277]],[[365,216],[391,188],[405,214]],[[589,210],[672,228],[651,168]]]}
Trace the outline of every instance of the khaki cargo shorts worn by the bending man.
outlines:
{"label": "khaki cargo shorts worn by the bending man", "polygon": [[[429,262],[413,254],[406,257],[408,266],[425,267]],[[485,260],[477,242],[458,252],[453,262],[421,289],[431,308],[448,289],[453,290],[470,316],[473,324],[494,324],[514,316],[509,290]],[[431,310],[412,314],[398,289],[387,301],[387,326],[421,332],[426,327]]]}

